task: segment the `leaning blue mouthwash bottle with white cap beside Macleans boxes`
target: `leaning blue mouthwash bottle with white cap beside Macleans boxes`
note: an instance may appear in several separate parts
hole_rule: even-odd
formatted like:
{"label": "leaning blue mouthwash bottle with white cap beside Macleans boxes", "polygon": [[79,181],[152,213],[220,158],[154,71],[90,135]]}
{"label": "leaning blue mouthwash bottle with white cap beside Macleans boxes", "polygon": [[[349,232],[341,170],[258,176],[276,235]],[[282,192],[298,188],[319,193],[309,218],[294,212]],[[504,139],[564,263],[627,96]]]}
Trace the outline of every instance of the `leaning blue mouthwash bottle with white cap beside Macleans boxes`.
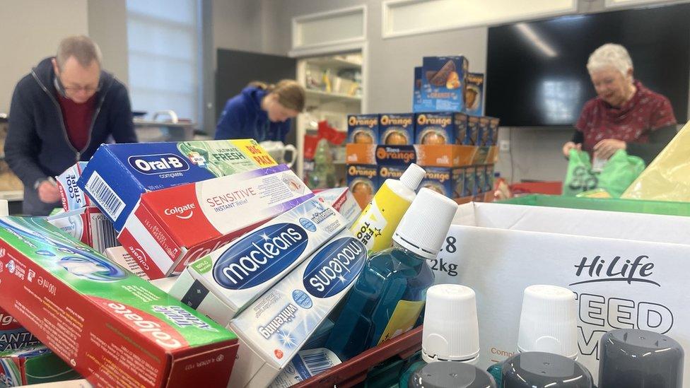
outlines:
{"label": "leaning blue mouthwash bottle with white cap beside Macleans boxes", "polygon": [[456,210],[455,201],[419,190],[393,234],[393,247],[365,264],[326,342],[341,360],[414,327],[433,284],[426,260],[438,254]]}

